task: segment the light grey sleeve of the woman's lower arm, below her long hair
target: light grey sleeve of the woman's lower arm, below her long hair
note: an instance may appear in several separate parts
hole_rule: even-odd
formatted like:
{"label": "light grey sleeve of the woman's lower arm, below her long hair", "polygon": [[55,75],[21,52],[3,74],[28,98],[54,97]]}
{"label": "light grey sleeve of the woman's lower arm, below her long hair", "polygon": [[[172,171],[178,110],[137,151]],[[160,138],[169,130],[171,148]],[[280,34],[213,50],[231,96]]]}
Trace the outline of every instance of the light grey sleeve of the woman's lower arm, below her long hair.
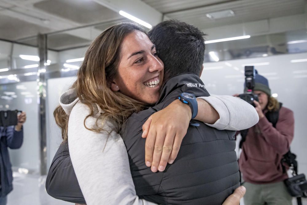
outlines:
{"label": "light grey sleeve of the woman's lower arm, below her long hair", "polygon": [[[72,166],[87,205],[153,204],[136,195],[128,155],[119,134],[105,122],[105,131],[93,132],[84,127],[89,109],[77,103],[69,116],[68,144]],[[96,118],[86,120],[88,128]]]}

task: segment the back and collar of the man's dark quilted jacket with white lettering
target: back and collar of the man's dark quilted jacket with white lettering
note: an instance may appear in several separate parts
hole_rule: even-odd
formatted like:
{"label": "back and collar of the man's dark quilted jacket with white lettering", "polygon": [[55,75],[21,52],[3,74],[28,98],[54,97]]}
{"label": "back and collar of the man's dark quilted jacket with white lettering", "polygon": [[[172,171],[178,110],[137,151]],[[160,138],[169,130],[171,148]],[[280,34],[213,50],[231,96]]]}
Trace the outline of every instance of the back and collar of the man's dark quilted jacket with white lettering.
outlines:
{"label": "back and collar of the man's dark quilted jacket with white lettering", "polygon": [[175,76],[165,83],[154,107],[135,113],[126,121],[122,138],[140,198],[158,204],[214,205],[222,204],[239,187],[235,131],[217,130],[202,122],[198,122],[199,127],[189,126],[176,160],[165,171],[153,173],[145,165],[143,123],[183,92],[209,96],[203,85],[194,74]]}

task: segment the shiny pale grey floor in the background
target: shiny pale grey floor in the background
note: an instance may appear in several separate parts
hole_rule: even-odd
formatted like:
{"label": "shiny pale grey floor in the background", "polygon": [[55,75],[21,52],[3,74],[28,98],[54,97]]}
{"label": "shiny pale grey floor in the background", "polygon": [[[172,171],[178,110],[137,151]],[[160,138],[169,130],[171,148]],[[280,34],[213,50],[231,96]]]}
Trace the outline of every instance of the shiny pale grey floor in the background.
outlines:
{"label": "shiny pale grey floor in the background", "polygon": [[[14,172],[14,190],[8,196],[7,205],[74,205],[49,196],[45,189],[46,176],[24,175]],[[307,205],[307,200],[303,200]],[[296,205],[293,199],[293,205]],[[241,200],[240,205],[244,205]]]}

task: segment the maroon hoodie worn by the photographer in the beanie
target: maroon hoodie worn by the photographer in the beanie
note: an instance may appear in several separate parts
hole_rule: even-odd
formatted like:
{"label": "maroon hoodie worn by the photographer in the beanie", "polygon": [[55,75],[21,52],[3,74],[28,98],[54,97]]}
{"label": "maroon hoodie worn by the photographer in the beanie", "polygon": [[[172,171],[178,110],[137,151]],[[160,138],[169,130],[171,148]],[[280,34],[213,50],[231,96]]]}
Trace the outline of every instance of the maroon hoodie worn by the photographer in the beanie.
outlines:
{"label": "maroon hoodie worn by the photographer in the beanie", "polygon": [[251,127],[239,159],[244,181],[264,184],[287,179],[288,175],[282,171],[281,159],[289,151],[293,135],[293,112],[285,107],[279,110],[276,128],[266,117]]}

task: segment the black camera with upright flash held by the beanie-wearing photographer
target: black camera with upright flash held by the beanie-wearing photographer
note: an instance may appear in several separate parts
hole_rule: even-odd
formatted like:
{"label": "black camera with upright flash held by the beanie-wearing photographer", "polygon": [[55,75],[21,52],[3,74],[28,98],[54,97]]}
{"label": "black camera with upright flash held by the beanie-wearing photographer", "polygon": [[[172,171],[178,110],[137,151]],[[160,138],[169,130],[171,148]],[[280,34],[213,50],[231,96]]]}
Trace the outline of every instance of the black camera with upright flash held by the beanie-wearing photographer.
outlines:
{"label": "black camera with upright flash held by the beanie-wearing photographer", "polygon": [[245,73],[245,86],[247,87],[247,91],[244,92],[243,94],[240,94],[239,97],[248,102],[249,104],[253,105],[256,107],[254,104],[255,101],[259,101],[258,95],[253,93],[253,89],[255,87],[255,69],[254,66],[245,66],[244,68],[244,73]]}

